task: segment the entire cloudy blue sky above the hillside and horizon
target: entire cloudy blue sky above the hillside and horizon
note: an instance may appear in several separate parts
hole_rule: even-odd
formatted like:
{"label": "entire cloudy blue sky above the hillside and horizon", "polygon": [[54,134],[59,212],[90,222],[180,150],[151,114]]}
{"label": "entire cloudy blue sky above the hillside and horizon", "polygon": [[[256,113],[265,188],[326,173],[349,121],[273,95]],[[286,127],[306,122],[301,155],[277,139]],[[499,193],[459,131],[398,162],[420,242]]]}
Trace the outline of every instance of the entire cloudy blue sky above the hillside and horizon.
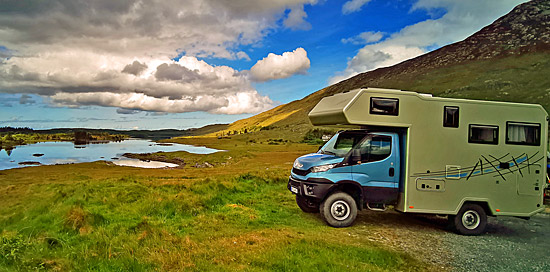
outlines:
{"label": "entire cloudy blue sky above the hillside and horizon", "polygon": [[0,0],[0,127],[231,123],[461,41],[517,0]]}

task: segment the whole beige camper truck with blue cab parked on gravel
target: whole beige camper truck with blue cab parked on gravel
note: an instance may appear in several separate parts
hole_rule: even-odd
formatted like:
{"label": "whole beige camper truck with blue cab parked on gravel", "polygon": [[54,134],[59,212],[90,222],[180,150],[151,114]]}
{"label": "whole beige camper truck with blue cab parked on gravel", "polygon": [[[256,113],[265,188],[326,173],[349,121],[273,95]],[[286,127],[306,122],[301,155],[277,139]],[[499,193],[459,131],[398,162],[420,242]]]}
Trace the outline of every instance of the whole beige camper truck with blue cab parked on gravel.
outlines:
{"label": "whole beige camper truck with blue cab parked on gravel", "polygon": [[294,162],[288,189],[334,227],[357,210],[448,215],[481,234],[487,216],[543,210],[548,114],[540,105],[450,99],[388,89],[323,98],[313,125],[355,125]]}

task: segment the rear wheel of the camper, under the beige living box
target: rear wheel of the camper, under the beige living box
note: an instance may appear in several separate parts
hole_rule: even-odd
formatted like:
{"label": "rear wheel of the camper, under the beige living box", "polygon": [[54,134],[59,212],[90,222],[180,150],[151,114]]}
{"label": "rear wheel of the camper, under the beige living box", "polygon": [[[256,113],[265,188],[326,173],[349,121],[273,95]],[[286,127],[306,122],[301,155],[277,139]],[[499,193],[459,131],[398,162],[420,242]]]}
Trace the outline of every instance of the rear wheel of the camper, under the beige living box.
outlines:
{"label": "rear wheel of the camper, under the beige living box", "polygon": [[449,216],[455,231],[462,235],[480,235],[487,227],[487,214],[477,204],[465,204],[455,216]]}

